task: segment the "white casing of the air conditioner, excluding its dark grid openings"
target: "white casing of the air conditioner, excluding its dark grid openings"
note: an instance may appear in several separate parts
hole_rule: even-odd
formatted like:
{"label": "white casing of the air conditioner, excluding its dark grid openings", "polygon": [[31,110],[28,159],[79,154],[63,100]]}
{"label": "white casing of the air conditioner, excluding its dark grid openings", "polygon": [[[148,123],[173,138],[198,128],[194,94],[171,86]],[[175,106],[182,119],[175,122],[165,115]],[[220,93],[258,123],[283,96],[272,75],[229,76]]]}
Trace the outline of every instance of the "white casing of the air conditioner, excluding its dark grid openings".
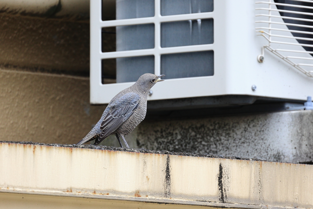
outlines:
{"label": "white casing of the air conditioner, excluding its dark grid openings", "polygon": [[[274,1],[270,1],[274,3]],[[164,100],[186,97],[207,97],[217,95],[250,95],[257,97],[283,98],[290,100],[306,100],[313,94],[313,58],[307,56],[309,69],[307,75],[297,67],[286,62],[266,47],[269,41],[256,33],[259,26],[268,27],[268,23],[256,23],[258,16],[268,14],[268,11],[256,8],[275,8],[275,4],[256,4],[251,0],[215,0],[213,12],[191,13],[181,15],[161,16],[160,0],[155,0],[155,16],[148,18],[101,20],[101,0],[90,1],[90,102],[92,104],[107,104],[121,90],[131,86],[133,82],[102,84],[101,60],[131,56],[154,55],[155,74],[161,74],[160,56],[178,52],[214,51],[214,75],[203,77],[166,79],[157,83],[151,89],[153,94],[148,100]],[[270,15],[280,15],[271,11]],[[160,23],[189,19],[213,18],[214,43],[192,46],[161,48]],[[279,19],[279,18],[277,18]],[[273,20],[273,18],[272,18]],[[281,21],[283,20],[280,18]],[[155,24],[155,47],[153,49],[101,52],[101,29],[104,27]],[[263,25],[262,25],[263,24]],[[287,26],[282,25],[288,30]],[[284,29],[284,28],[282,28]],[[258,31],[258,30],[257,30]],[[265,30],[264,30],[265,31]],[[290,32],[286,32],[290,33]],[[290,33],[290,36],[292,34]],[[278,37],[281,38],[281,37]],[[284,38],[282,38],[284,39]],[[294,39],[296,42],[296,40]],[[274,43],[275,45],[275,43]],[[278,47],[282,44],[276,44]],[[273,46],[270,45],[270,46]],[[289,47],[289,48],[288,48]],[[301,46],[289,45],[291,50],[303,50]],[[296,47],[296,48],[294,48]],[[264,51],[264,62],[257,57]],[[255,91],[252,86],[256,86]]]}

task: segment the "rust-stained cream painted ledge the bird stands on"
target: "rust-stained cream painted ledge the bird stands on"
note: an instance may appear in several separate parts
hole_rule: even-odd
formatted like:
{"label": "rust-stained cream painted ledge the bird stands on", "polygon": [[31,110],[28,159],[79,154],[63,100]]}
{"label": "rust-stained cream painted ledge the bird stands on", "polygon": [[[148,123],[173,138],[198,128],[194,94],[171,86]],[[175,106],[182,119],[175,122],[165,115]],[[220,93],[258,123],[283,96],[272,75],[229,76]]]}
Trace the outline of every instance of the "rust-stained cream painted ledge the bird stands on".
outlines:
{"label": "rust-stained cream painted ledge the bird stands on", "polygon": [[313,165],[0,143],[0,191],[0,204],[17,204],[8,200],[20,193],[55,202],[64,196],[69,202],[313,208]]}

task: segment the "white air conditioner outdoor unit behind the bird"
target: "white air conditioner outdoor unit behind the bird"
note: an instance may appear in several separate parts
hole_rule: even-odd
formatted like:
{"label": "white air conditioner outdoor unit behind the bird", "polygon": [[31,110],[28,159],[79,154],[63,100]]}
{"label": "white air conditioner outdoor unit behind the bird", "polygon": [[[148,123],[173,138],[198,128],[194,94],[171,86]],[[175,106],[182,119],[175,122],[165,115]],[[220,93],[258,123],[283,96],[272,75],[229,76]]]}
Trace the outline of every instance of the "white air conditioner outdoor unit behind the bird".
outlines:
{"label": "white air conditioner outdoor unit behind the bird", "polygon": [[[103,21],[101,0],[91,0],[90,102],[108,103],[144,73],[166,75],[148,100],[305,100],[313,93],[312,9],[311,0],[117,0],[116,20]],[[115,40],[115,51],[103,50]],[[104,84],[115,65],[116,83]]]}

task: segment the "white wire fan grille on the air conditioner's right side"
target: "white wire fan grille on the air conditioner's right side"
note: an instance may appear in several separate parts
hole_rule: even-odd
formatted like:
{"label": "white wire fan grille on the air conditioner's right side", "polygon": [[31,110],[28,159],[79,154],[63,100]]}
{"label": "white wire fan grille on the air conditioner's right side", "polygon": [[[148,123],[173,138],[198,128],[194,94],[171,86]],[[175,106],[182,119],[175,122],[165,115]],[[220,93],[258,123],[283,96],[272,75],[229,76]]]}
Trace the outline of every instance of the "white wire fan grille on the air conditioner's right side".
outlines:
{"label": "white wire fan grille on the air conditioner's right side", "polygon": [[256,32],[268,41],[264,48],[313,77],[313,1],[269,0],[256,4]]}

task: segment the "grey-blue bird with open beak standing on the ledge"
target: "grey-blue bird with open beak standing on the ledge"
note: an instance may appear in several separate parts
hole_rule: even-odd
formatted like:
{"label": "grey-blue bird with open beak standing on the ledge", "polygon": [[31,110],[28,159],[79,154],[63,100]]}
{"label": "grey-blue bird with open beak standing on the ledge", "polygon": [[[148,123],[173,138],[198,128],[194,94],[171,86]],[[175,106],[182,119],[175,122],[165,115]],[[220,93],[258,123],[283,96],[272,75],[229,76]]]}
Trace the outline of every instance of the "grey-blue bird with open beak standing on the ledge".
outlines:
{"label": "grey-blue bird with open beak standing on the ledge", "polygon": [[124,136],[131,133],[143,121],[147,112],[148,93],[152,86],[165,75],[143,74],[132,86],[118,93],[105,108],[98,123],[77,145],[95,140],[94,145],[100,144],[111,134],[115,134],[121,148],[120,137],[129,148]]}

